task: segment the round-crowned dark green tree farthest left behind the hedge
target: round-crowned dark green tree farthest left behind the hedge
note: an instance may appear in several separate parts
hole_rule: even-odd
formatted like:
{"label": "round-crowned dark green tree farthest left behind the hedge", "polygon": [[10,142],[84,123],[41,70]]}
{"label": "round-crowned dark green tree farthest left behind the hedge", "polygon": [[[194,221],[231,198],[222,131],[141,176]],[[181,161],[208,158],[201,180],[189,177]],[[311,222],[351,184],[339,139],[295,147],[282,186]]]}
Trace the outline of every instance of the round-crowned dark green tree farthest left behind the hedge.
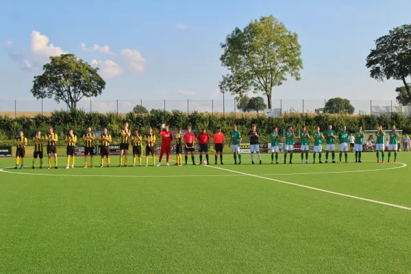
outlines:
{"label": "round-crowned dark green tree farthest left behind the hedge", "polygon": [[51,62],[43,66],[44,73],[34,76],[32,95],[36,99],[64,101],[70,109],[75,109],[83,97],[97,97],[105,88],[99,69],[92,68],[74,54],[51,56]]}

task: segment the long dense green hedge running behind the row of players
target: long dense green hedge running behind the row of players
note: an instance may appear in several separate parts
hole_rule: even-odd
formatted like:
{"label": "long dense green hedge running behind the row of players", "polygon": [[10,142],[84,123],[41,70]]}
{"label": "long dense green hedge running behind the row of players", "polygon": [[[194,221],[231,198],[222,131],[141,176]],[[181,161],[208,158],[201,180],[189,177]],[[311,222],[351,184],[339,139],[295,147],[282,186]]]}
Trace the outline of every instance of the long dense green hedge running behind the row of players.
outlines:
{"label": "long dense green hedge running behind the row of players", "polygon": [[213,115],[201,112],[192,112],[187,114],[179,110],[168,112],[166,110],[151,110],[149,114],[127,114],[117,113],[98,113],[86,112],[84,110],[55,111],[50,116],[36,115],[34,117],[17,117],[15,119],[10,116],[0,115],[0,140],[12,140],[18,136],[18,132],[23,130],[25,136],[34,136],[37,130],[45,133],[49,126],[54,128],[54,132],[65,136],[69,128],[73,128],[75,134],[82,135],[86,127],[92,129],[103,129],[107,127],[112,132],[113,138],[119,137],[119,129],[123,123],[128,122],[130,128],[139,129],[140,132],[147,132],[149,126],[158,129],[162,123],[168,123],[171,129],[177,127],[186,128],[188,125],[195,132],[199,132],[203,127],[210,132],[214,132],[216,127],[221,127],[225,134],[229,134],[233,124],[238,126],[238,130],[242,134],[246,134],[251,125],[255,123],[264,136],[268,140],[269,133],[273,127],[278,127],[279,132],[286,129],[288,125],[295,128],[300,128],[306,125],[310,132],[314,132],[316,125],[321,127],[321,130],[327,128],[328,125],[333,125],[338,131],[343,125],[347,125],[349,132],[354,132],[359,125],[364,129],[377,129],[378,125],[384,128],[390,128],[396,125],[398,129],[403,129],[403,132],[411,132],[411,119],[406,118],[401,113],[373,115],[348,115],[348,114],[299,114],[287,113],[280,117],[267,118],[261,116],[242,116],[240,114],[230,114],[227,116]]}

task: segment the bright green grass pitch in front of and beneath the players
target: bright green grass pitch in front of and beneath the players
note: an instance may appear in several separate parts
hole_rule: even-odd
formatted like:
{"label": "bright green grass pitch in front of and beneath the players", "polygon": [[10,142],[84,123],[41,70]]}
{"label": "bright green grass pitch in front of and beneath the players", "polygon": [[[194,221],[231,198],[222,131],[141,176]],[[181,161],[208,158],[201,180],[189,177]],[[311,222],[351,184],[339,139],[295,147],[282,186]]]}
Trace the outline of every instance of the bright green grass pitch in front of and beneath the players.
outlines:
{"label": "bright green grass pitch in front of and beneath the players", "polygon": [[0,159],[0,273],[411,273],[411,153],[353,158],[83,169],[77,157],[69,170]]}

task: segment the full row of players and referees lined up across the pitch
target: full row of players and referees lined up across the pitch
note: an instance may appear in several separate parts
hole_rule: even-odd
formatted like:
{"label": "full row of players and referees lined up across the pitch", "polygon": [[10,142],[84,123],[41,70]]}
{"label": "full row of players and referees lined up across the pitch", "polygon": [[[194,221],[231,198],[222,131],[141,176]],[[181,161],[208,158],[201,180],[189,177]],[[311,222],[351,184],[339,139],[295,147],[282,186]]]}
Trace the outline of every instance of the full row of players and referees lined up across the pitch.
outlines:
{"label": "full row of players and referees lined up across the pitch", "polygon": [[[150,127],[147,134],[140,136],[137,129],[134,129],[132,133],[129,130],[128,123],[124,124],[124,127],[121,129],[120,136],[121,136],[121,143],[120,143],[120,158],[119,158],[119,166],[123,166],[123,156],[124,156],[124,166],[128,164],[128,151],[129,145],[132,145],[132,153],[133,153],[133,166],[136,166],[136,158],[138,158],[138,166],[142,165],[142,144],[145,143],[145,166],[148,166],[149,155],[151,154],[153,158],[153,165],[155,166],[155,149],[154,145],[156,142],[155,134],[153,134],[153,129]],[[161,140],[161,149],[160,149],[160,158],[158,161],[157,166],[161,165],[163,155],[166,154],[166,166],[169,166],[170,160],[170,153],[171,153],[171,142],[173,141],[173,134],[169,130],[169,126],[166,125],[163,129],[160,129],[158,135],[162,136]],[[379,126],[377,132],[375,132],[377,136],[375,150],[377,151],[377,162],[379,162],[379,154],[382,155],[382,162],[384,163],[385,153],[384,153],[384,138],[386,136],[386,132],[382,129],[382,126]],[[339,155],[339,162],[341,162],[343,153],[345,154],[345,162],[348,162],[348,138],[349,133],[347,132],[347,127],[343,127],[343,129],[338,132],[338,135],[332,128],[332,125],[329,125],[328,129],[323,132],[320,131],[320,127],[316,127],[316,132],[312,134],[314,138],[314,148],[313,148],[313,158],[314,163],[316,162],[316,154],[319,154],[319,163],[322,164],[322,148],[323,148],[323,140],[325,140],[325,163],[328,162],[329,159],[329,152],[332,153],[332,162],[335,163],[335,139],[339,139],[340,142],[340,155]],[[395,126],[389,132],[390,141],[388,147],[388,162],[390,162],[391,152],[394,151],[395,155],[395,162],[397,162],[397,138],[399,138],[399,134]],[[254,164],[254,153],[257,153],[259,163],[262,164],[262,159],[260,155],[260,144],[259,138],[260,133],[257,130],[256,125],[252,125],[251,131],[249,132],[249,142],[250,142],[250,152],[251,152],[251,163]],[[290,154],[289,163],[292,164],[292,155],[293,155],[293,145],[295,143],[295,129],[290,126],[288,127],[286,133],[286,142],[284,147],[284,164],[287,162],[288,154]],[[303,126],[301,130],[299,130],[299,138],[301,140],[301,163],[306,162],[308,164],[308,155],[310,151],[310,133],[308,129]],[[182,149],[184,147],[185,151],[185,164],[188,161],[188,153],[191,155],[192,164],[195,163],[195,140],[199,142],[199,160],[200,163],[203,162],[203,154],[206,154],[206,164],[210,164],[209,156],[208,156],[208,149],[210,147],[210,135],[206,132],[206,129],[202,129],[201,132],[197,135],[191,131],[191,127],[187,128],[187,132],[182,134],[182,129],[179,128],[178,132],[175,136],[176,148],[175,152],[177,155],[176,164],[177,166],[182,165]],[[358,127],[358,131],[355,132],[355,147],[354,150],[356,151],[356,162],[361,162],[361,154],[362,154],[362,144],[364,139],[364,131],[362,127]],[[93,166],[93,154],[94,154],[94,145],[95,142],[98,140],[100,153],[100,167],[103,167],[103,160],[104,157],[106,158],[107,166],[110,167],[110,143],[112,142],[112,137],[108,134],[108,130],[106,128],[103,129],[103,134],[100,134],[99,138],[97,139],[95,134],[91,132],[91,128],[88,127],[86,132],[83,134],[82,140],[84,142],[84,168],[87,168],[87,157],[90,155],[90,167]],[[220,155],[220,164],[223,164],[223,143],[224,143],[224,135],[221,132],[221,127],[217,128],[216,134],[213,136],[214,140],[214,151],[215,151],[215,164],[217,164],[218,156]],[[271,140],[271,164],[278,164],[278,153],[279,153],[279,134],[278,128],[275,127],[273,132],[270,134]],[[74,168],[75,163],[75,145],[77,143],[77,136],[73,134],[73,129],[69,129],[69,134],[66,136],[65,141],[67,143],[66,147],[66,169],[69,169],[69,164],[71,160],[71,168]],[[58,169],[58,158],[57,158],[57,147],[56,144],[58,142],[58,135],[53,132],[53,127],[49,127],[48,134],[45,136],[41,135],[41,132],[36,132],[36,136],[33,138],[34,143],[34,158],[32,162],[32,169],[35,169],[36,159],[40,158],[40,169],[42,169],[42,158],[43,158],[43,145],[47,145],[47,156],[48,156],[48,169],[51,169],[51,156],[53,155],[54,158],[54,167]],[[184,144],[183,144],[184,142]],[[242,164],[242,157],[240,154],[240,145],[242,142],[242,136],[236,125],[232,127],[231,138],[229,140],[229,147],[232,145],[232,152],[234,156],[234,164]],[[14,169],[18,169],[18,164],[21,161],[21,169],[23,169],[24,158],[25,158],[25,146],[27,145],[27,138],[23,136],[23,132],[19,133],[19,136],[14,141],[16,145],[16,166]],[[305,156],[305,161],[304,161]],[[238,162],[237,162],[238,158]],[[275,160],[274,160],[275,158]]]}

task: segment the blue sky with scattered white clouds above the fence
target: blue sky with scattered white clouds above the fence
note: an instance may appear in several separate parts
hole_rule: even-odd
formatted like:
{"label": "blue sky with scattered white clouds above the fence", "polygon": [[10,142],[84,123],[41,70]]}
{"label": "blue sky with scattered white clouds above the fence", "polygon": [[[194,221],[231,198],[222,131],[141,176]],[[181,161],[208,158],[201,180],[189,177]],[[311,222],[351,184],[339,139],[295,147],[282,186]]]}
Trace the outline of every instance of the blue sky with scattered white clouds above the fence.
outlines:
{"label": "blue sky with scattered white clouds above the fence", "polygon": [[364,64],[376,38],[410,23],[410,1],[332,2],[3,1],[1,99],[30,99],[34,73],[60,51],[101,67],[99,99],[221,99],[220,42],[269,14],[297,32],[304,66],[273,99],[395,99],[401,82],[376,82]]}

